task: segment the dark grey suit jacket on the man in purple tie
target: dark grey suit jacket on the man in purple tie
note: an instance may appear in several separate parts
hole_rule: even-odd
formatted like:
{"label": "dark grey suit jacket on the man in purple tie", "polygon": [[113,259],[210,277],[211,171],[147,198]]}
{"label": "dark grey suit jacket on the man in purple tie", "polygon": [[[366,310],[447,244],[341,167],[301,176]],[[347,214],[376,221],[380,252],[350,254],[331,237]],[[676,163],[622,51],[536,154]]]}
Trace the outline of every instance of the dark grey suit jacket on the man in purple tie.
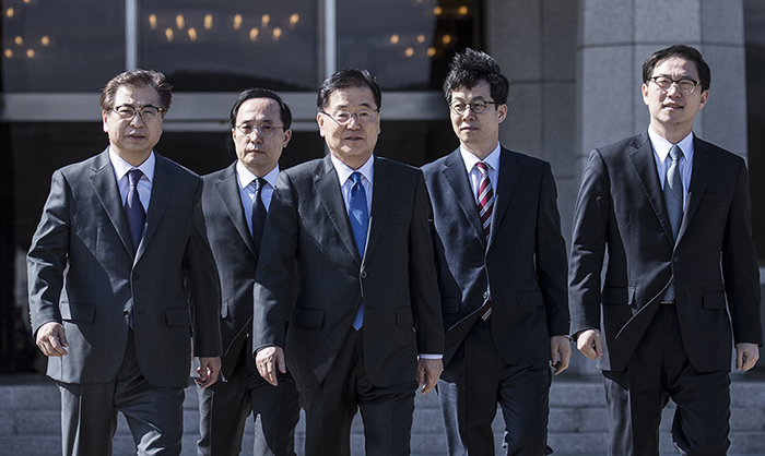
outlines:
{"label": "dark grey suit jacket on the man in purple tie", "polygon": [[55,321],[69,340],[69,355],[48,359],[54,380],[111,381],[128,340],[127,312],[134,319],[136,358],[153,386],[188,386],[192,334],[197,356],[221,353],[220,287],[202,220],[202,181],[155,155],[137,253],[108,149],[52,176],[27,275],[33,334]]}

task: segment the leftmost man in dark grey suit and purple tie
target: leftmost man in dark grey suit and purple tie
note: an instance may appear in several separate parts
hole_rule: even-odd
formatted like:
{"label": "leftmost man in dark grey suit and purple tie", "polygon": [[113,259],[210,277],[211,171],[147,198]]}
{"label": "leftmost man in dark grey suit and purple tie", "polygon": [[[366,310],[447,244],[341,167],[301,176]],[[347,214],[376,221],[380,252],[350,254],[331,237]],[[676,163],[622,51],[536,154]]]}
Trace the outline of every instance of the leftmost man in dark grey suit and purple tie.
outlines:
{"label": "leftmost man in dark grey suit and purple tie", "polygon": [[170,99],[155,71],[109,81],[109,146],[54,172],[32,240],[32,329],[61,392],[66,456],[111,454],[118,411],[139,455],[179,455],[192,339],[200,387],[217,379],[202,180],[154,152]]}

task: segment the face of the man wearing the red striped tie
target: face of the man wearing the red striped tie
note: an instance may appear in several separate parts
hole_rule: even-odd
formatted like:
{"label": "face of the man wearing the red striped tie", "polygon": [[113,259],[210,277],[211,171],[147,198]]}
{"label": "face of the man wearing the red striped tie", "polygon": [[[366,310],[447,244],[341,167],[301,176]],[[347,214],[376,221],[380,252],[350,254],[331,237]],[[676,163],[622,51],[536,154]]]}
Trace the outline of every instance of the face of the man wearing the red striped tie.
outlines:
{"label": "face of the man wearing the red striped tie", "polygon": [[[461,101],[471,104],[474,101],[494,101],[492,88],[486,81],[479,82],[475,87],[458,87],[451,92],[451,103]],[[472,109],[466,109],[461,115],[449,109],[451,128],[459,139],[462,147],[480,159],[486,158],[494,151],[499,141],[499,123],[507,116],[507,105],[486,105],[486,110],[475,113]]]}

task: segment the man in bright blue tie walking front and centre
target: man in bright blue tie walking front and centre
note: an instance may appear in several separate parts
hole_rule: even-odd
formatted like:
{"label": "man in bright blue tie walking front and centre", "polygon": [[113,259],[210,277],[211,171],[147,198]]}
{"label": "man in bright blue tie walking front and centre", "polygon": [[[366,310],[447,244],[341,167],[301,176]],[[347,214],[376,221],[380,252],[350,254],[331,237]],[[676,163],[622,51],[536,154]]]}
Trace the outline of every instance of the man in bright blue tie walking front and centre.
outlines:
{"label": "man in bright blue tie walking front and centre", "polygon": [[323,82],[317,121],[330,154],[282,171],[266,224],[256,364],[274,385],[285,368],[294,375],[307,456],[350,455],[360,410],[367,455],[408,455],[417,384],[431,391],[442,371],[427,192],[420,170],[374,155],[380,103],[366,70]]}

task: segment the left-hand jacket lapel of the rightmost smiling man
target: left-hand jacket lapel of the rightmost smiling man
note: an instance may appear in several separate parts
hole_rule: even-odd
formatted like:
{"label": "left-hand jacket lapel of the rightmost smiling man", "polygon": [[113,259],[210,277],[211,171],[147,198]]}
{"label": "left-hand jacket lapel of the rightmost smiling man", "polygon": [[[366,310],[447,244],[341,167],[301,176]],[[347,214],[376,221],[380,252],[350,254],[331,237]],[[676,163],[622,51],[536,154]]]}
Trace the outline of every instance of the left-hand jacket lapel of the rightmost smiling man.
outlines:
{"label": "left-hand jacket lapel of the rightmost smiling man", "polygon": [[661,190],[661,182],[659,181],[659,175],[656,169],[656,159],[654,158],[654,147],[648,140],[648,132],[643,132],[642,134],[635,136],[632,146],[633,151],[628,153],[629,160],[632,161],[637,177],[643,185],[643,190],[648,197],[648,201],[656,213],[659,223],[664,228],[664,233],[674,242],[672,236],[672,225],[669,221],[669,215],[667,214],[667,205],[664,204],[664,193]]}

